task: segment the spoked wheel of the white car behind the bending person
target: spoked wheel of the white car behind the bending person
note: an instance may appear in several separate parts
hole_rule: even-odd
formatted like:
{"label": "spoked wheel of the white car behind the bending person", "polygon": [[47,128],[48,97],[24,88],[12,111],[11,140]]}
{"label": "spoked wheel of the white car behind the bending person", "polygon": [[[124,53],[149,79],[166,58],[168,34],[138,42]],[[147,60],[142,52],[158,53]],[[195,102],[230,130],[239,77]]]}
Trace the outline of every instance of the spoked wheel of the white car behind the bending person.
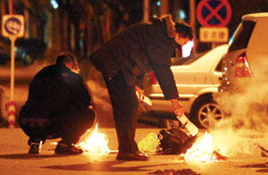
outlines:
{"label": "spoked wheel of the white car behind the bending person", "polygon": [[212,129],[224,118],[222,109],[214,100],[199,98],[191,113],[191,119],[200,129]]}

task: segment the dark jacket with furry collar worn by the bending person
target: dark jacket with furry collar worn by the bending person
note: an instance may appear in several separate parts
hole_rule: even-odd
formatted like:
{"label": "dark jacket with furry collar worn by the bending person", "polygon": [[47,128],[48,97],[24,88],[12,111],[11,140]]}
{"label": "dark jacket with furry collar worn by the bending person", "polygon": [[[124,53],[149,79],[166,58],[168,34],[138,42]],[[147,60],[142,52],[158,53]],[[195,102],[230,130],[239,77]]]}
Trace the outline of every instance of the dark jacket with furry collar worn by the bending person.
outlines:
{"label": "dark jacket with furry collar worn by the bending person", "polygon": [[166,18],[155,19],[123,30],[97,49],[90,56],[91,62],[107,79],[122,71],[128,85],[136,85],[138,77],[153,70],[165,99],[178,98],[171,71],[176,43],[169,36],[169,22]]}

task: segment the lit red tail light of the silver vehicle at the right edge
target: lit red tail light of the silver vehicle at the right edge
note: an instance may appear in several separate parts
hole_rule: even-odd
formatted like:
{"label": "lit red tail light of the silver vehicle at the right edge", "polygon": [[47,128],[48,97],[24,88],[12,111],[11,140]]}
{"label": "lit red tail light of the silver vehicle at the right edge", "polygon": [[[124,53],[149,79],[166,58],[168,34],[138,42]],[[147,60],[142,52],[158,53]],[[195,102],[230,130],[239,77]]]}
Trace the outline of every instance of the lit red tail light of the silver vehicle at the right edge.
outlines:
{"label": "lit red tail light of the silver vehicle at the right edge", "polygon": [[253,76],[253,71],[251,71],[250,65],[247,62],[246,53],[240,54],[236,60],[235,76],[236,77],[252,77]]}

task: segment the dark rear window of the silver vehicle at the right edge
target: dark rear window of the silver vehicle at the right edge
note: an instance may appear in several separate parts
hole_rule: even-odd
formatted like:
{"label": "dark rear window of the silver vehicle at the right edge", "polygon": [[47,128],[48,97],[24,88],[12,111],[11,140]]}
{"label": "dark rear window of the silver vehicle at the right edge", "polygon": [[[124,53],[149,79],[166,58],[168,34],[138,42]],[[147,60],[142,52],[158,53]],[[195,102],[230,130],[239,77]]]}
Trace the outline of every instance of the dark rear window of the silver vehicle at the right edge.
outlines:
{"label": "dark rear window of the silver vehicle at the right edge", "polygon": [[247,48],[249,38],[255,28],[255,21],[242,21],[230,39],[229,52]]}

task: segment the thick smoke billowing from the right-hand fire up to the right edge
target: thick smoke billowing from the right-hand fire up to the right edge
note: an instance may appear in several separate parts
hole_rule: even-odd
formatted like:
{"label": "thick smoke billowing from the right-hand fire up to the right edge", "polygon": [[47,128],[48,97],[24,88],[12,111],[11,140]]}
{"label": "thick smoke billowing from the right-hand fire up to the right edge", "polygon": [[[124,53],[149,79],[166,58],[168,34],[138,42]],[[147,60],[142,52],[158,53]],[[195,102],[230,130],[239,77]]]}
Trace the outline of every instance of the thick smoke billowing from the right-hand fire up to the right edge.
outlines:
{"label": "thick smoke billowing from the right-hand fire up to the right edge", "polygon": [[260,149],[257,144],[262,145],[263,140],[267,139],[268,76],[265,67],[255,64],[254,77],[230,78],[231,85],[239,87],[239,90],[214,96],[227,113],[227,117],[211,131],[214,147],[223,154],[258,153]]}

